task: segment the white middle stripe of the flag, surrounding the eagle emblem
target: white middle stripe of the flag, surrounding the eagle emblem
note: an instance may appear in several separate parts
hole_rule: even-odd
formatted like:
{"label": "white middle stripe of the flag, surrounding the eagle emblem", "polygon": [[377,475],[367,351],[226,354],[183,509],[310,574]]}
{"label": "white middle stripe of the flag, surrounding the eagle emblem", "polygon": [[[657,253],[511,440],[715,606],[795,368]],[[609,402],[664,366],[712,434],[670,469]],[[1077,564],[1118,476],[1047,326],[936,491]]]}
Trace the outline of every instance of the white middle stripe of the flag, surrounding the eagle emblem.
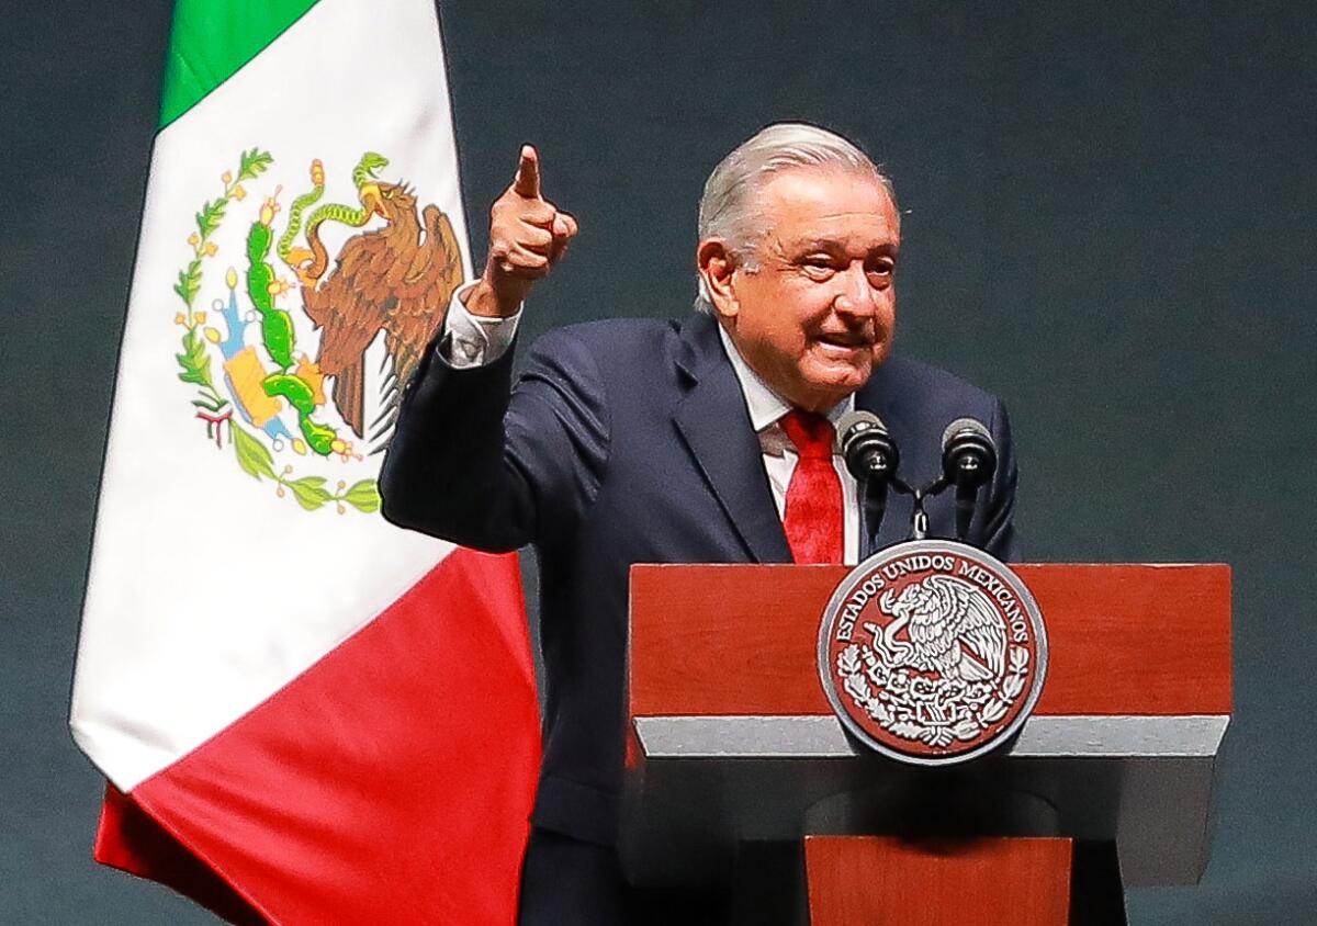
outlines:
{"label": "white middle stripe of the flag, surrounding the eagle emblem", "polygon": [[[327,47],[353,66],[316,68]],[[263,198],[283,186],[282,232],[319,158],[324,202],[352,203],[350,173],[365,151],[390,158],[382,177],[408,180],[417,208],[435,203],[448,215],[469,277],[452,121],[446,108],[425,105],[446,96],[429,4],[323,0],[157,140],[72,710],[79,744],[121,790],[255,707],[452,549],[378,514],[303,511],[277,498],[273,482],[245,474],[227,441],[208,443],[188,404],[194,387],[178,379],[183,329],[173,319],[182,303],[171,291],[191,258],[194,213],[250,148],[270,151],[274,165],[245,184],[246,198],[212,237],[219,252],[204,261],[196,308],[213,311],[227,267],[242,274],[244,238]],[[325,234],[331,254],[356,231],[337,228]],[[298,353],[313,357],[316,335],[304,316],[298,325]],[[367,364],[378,356],[377,345]],[[304,460],[275,457],[286,458]],[[379,456],[365,456],[323,462],[321,472],[331,485],[350,485],[378,465]]]}

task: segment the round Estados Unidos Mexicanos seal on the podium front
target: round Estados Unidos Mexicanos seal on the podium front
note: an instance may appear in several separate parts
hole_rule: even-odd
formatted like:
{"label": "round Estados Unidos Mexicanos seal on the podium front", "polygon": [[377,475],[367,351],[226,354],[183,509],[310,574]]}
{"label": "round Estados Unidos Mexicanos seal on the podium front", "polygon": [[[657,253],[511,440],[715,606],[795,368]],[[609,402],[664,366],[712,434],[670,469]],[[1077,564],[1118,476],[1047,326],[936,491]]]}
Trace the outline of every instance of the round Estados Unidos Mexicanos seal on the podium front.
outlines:
{"label": "round Estados Unidos Mexicanos seal on the podium front", "polygon": [[1042,690],[1047,636],[1005,564],[961,543],[911,540],[838,586],[818,664],[851,734],[889,757],[944,765],[1019,730]]}

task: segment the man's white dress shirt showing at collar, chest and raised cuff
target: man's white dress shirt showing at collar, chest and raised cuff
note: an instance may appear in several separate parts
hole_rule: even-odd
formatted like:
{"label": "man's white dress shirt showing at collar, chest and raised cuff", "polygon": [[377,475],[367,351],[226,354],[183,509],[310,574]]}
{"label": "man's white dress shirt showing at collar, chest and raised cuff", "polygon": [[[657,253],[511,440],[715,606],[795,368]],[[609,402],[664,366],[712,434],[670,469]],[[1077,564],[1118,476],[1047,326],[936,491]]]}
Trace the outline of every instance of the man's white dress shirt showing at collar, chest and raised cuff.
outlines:
{"label": "man's white dress shirt showing at collar, chest and raised cuff", "polygon": [[[450,336],[448,345],[448,362],[456,369],[469,366],[483,366],[493,364],[502,357],[522,321],[522,311],[506,319],[483,317],[471,315],[462,304],[461,296],[474,283],[458,288],[448,307],[444,317],[444,333]],[[792,410],[790,403],[769,389],[755,370],[749,368],[740,356],[736,345],[732,344],[727,331],[719,325],[718,336],[723,342],[723,349],[731,360],[732,370],[740,382],[741,395],[745,399],[745,410],[749,412],[751,427],[759,435],[759,445],[764,453],[764,472],[768,474],[768,485],[773,490],[773,503],[777,506],[777,516],[782,518],[786,511],[786,487],[792,482],[792,473],[799,461],[799,453],[792,444],[778,420]],[[443,339],[440,339],[443,344]],[[827,418],[835,425],[838,419],[855,407],[855,396],[848,395],[844,402],[828,410]],[[842,454],[834,447],[832,469],[836,470],[842,481],[842,549],[847,565],[855,565],[860,558],[860,508],[857,503],[859,491],[855,478],[847,472]]]}

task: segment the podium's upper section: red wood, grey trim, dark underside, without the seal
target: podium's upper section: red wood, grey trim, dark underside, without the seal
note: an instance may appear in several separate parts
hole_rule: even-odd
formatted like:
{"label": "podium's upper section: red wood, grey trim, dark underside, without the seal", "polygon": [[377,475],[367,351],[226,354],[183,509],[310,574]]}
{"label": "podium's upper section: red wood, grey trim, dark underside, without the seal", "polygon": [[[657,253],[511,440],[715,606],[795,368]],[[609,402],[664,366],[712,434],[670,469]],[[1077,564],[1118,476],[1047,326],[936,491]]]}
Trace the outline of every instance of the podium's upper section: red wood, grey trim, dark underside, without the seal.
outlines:
{"label": "podium's upper section: red wood, grey trim, dark underside, without the seal", "polygon": [[[1015,740],[956,771],[955,786],[1050,810],[1050,826],[1010,835],[1115,839],[1126,884],[1197,881],[1231,706],[1229,566],[1013,569],[1047,623],[1047,680]],[[855,743],[819,684],[819,619],[848,572],[632,568],[622,854],[633,880],[714,877],[740,839],[881,830],[913,776],[930,781]]]}

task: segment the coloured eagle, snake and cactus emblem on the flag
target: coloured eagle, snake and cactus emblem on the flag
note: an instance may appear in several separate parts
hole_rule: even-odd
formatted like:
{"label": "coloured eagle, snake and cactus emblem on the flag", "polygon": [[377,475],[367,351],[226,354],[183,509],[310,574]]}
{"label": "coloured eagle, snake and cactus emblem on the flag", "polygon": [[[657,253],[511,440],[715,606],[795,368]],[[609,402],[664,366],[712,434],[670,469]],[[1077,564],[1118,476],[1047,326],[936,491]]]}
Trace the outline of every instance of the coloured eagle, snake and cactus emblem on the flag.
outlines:
{"label": "coloured eagle, snake and cactus emblem on the flag", "polygon": [[[381,154],[352,169],[349,202],[324,202],[320,159],[298,173],[292,196],[270,182],[273,163],[269,151],[242,151],[196,212],[174,285],[178,378],[195,390],[205,439],[232,447],[244,473],[308,511],[370,514],[374,468],[352,464],[387,445],[402,387],[462,283],[457,237],[408,183],[382,179]],[[341,241],[336,252],[329,238]],[[212,273],[216,263],[229,266]],[[367,369],[381,339],[382,369]]]}

